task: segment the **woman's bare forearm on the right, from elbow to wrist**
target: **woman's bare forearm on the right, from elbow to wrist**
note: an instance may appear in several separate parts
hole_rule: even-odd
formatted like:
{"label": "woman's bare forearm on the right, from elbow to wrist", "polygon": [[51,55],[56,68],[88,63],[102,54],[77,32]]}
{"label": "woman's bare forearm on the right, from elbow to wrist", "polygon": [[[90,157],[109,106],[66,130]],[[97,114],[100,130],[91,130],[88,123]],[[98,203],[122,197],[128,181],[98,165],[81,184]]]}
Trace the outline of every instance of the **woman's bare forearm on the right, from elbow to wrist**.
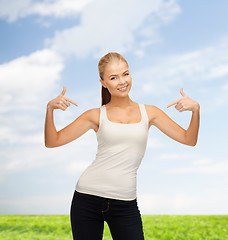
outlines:
{"label": "woman's bare forearm on the right, from elbow to wrist", "polygon": [[197,104],[194,111],[192,111],[192,118],[188,129],[186,130],[186,142],[190,146],[195,146],[198,139],[200,123],[200,105]]}

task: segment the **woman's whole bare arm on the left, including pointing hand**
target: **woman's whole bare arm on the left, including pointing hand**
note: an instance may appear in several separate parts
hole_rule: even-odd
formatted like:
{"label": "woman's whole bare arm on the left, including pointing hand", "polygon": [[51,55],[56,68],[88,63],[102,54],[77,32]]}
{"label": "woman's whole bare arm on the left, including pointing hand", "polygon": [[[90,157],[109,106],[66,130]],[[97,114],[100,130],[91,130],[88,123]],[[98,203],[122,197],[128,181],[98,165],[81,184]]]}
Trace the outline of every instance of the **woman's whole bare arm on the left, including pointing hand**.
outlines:
{"label": "woman's whole bare arm on the left, including pointing hand", "polygon": [[77,103],[64,96],[65,92],[66,89],[64,89],[57,98],[47,104],[45,119],[45,146],[48,148],[59,147],[67,144],[77,139],[93,127],[93,110],[88,110],[65,128],[58,132],[56,131],[53,119],[54,109],[62,109],[65,111],[70,105],[68,101],[78,106]]}

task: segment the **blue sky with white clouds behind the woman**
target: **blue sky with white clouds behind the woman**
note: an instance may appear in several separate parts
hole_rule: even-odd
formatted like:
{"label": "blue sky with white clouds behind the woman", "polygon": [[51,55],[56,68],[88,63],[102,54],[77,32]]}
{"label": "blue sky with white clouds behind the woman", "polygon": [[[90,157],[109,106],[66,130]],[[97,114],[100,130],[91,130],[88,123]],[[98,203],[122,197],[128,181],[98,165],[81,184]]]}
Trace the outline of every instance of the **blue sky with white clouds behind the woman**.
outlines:
{"label": "blue sky with white clouds behind the woman", "polygon": [[94,160],[96,134],[44,146],[46,104],[58,130],[101,105],[97,64],[128,61],[132,100],[188,128],[191,112],[166,108],[180,89],[200,103],[195,147],[152,126],[138,170],[142,214],[228,214],[228,3],[176,0],[0,1],[0,214],[69,214],[76,182]]}

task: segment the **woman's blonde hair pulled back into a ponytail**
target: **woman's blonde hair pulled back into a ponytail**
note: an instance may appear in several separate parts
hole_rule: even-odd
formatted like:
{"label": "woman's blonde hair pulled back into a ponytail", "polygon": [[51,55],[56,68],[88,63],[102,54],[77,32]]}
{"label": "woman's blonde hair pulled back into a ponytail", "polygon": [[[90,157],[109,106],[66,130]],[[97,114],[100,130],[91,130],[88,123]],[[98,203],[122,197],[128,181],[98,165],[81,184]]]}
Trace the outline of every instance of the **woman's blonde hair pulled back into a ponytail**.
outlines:
{"label": "woman's blonde hair pulled back into a ponytail", "polygon": [[[106,55],[104,55],[99,63],[98,63],[98,71],[99,71],[99,76],[101,78],[101,80],[104,80],[103,79],[103,76],[104,76],[104,71],[105,71],[105,67],[107,66],[108,63],[112,62],[112,61],[123,61],[127,64],[128,66],[128,63],[126,61],[126,59],[119,53],[117,52],[110,52],[110,53],[107,53]],[[104,88],[103,85],[102,85],[102,88],[101,88],[101,105],[104,105],[104,104],[107,104],[108,102],[110,102],[111,100],[111,94],[110,92],[108,91],[107,88]]]}

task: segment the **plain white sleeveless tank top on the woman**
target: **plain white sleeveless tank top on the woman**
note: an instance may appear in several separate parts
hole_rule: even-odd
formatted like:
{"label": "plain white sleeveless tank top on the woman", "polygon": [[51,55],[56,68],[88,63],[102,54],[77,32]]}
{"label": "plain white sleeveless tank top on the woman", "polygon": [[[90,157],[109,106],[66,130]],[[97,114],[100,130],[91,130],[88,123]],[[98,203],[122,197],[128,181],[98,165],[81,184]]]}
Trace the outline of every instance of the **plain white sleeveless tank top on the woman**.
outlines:
{"label": "plain white sleeveless tank top on the woman", "polygon": [[96,158],[80,176],[75,187],[78,192],[119,200],[136,198],[137,170],[149,131],[145,105],[138,106],[141,121],[137,123],[111,122],[105,105],[100,107]]}

